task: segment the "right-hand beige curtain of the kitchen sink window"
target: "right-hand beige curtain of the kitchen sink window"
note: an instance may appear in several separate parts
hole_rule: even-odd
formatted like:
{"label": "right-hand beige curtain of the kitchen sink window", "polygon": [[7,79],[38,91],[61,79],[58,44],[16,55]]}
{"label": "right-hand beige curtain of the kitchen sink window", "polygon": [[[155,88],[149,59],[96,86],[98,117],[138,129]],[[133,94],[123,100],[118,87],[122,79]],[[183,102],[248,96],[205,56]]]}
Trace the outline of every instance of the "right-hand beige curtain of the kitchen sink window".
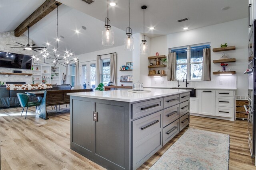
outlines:
{"label": "right-hand beige curtain of the kitchen sink window", "polygon": [[203,81],[211,80],[211,49],[203,49],[203,69],[202,69],[202,78]]}

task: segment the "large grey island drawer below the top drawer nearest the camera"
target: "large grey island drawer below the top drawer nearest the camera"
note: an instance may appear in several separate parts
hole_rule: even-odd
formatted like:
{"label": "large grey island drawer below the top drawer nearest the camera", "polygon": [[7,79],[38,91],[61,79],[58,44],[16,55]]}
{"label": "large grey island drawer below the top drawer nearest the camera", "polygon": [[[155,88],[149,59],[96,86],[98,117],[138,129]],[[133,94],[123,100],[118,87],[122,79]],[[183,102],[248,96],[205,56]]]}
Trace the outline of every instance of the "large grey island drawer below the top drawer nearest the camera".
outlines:
{"label": "large grey island drawer below the top drawer nearest the camera", "polygon": [[157,129],[162,128],[162,113],[163,111],[161,110],[132,121],[133,140],[137,142]]}

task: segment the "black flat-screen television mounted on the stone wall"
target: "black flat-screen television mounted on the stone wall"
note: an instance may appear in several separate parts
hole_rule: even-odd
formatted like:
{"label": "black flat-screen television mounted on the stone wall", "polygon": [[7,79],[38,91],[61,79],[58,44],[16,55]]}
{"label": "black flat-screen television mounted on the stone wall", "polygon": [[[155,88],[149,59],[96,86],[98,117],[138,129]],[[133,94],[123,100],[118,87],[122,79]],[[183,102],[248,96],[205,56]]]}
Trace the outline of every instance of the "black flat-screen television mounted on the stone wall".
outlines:
{"label": "black flat-screen television mounted on the stone wall", "polygon": [[30,69],[32,57],[30,55],[15,54],[0,51],[0,67]]}

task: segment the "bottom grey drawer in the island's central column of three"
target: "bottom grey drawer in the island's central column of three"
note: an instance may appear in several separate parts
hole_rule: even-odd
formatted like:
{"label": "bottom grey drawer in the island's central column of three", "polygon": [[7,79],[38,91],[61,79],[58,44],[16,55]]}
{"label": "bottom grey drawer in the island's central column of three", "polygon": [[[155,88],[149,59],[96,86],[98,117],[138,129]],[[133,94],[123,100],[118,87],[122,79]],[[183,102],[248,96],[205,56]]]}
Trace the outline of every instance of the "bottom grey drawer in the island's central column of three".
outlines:
{"label": "bottom grey drawer in the island's central column of three", "polygon": [[163,146],[180,132],[180,119],[172,122],[163,129]]}

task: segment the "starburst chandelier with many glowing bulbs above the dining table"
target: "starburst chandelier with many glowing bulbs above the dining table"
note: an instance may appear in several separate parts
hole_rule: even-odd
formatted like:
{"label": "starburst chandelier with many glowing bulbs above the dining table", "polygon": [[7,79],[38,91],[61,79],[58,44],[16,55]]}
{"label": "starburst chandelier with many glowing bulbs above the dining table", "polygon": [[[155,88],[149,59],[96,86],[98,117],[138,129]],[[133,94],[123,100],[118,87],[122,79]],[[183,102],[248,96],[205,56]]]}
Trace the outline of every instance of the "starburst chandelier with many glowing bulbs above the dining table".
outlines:
{"label": "starburst chandelier with many glowing bulbs above the dining table", "polygon": [[[58,6],[60,4],[56,3],[57,6],[57,29],[56,29],[56,48],[53,49],[54,55],[51,56],[50,53],[47,51],[47,48],[44,47],[44,49],[41,49],[39,56],[32,56],[34,64],[54,64],[56,66],[57,64],[60,64],[62,66],[67,67],[69,66],[76,66],[76,63],[78,62],[78,59],[74,56],[72,52],[65,51],[65,53],[60,54],[58,53],[58,42],[60,39],[58,38]],[[52,53],[53,53],[52,52]]]}

